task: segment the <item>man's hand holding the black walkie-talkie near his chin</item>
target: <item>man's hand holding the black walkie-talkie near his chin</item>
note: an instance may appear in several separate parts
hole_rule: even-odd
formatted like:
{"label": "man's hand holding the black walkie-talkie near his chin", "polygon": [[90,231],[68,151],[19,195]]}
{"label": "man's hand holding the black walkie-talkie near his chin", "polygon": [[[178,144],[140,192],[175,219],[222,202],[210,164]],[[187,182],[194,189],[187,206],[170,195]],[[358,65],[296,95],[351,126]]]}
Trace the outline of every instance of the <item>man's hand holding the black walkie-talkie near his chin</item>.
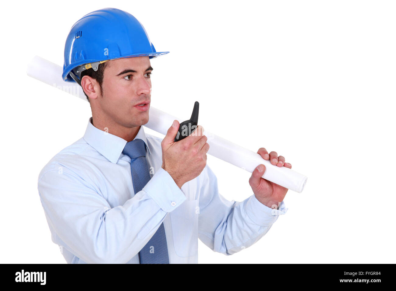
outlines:
{"label": "man's hand holding the black walkie-talkie near his chin", "polygon": [[161,142],[162,169],[167,171],[177,186],[196,178],[206,166],[206,153],[209,150],[204,128],[198,126],[190,135],[175,142],[179,122],[175,120]]}

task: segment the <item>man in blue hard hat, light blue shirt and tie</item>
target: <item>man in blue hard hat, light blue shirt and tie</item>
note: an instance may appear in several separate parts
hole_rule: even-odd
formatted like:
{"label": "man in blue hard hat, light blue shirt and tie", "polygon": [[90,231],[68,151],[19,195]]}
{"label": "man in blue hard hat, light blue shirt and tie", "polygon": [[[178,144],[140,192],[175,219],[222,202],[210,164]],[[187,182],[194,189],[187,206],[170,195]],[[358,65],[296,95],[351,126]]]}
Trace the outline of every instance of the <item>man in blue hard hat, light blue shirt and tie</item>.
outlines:
{"label": "man in blue hard hat, light blue shirt and tie", "polygon": [[[82,86],[92,117],[84,137],[38,177],[52,240],[68,263],[196,263],[198,238],[231,255],[287,210],[287,189],[261,178],[264,165],[249,179],[253,195],[223,198],[206,165],[201,126],[178,142],[177,120],[164,139],[145,134],[150,58],[165,53],[156,52],[135,17],[114,8],[93,11],[70,30],[63,78]],[[276,152],[258,153],[291,168]]]}

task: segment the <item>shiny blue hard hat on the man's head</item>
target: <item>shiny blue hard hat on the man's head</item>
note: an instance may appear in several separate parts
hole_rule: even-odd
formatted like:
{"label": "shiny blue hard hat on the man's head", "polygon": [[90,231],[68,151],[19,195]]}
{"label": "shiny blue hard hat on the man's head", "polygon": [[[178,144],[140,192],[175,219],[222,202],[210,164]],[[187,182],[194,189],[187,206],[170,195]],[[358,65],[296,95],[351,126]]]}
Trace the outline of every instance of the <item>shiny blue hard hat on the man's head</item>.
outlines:
{"label": "shiny blue hard hat on the man's head", "polygon": [[70,29],[65,43],[63,80],[78,82],[82,70],[122,57],[150,59],[165,55],[157,52],[143,25],[133,15],[116,8],[88,13]]}

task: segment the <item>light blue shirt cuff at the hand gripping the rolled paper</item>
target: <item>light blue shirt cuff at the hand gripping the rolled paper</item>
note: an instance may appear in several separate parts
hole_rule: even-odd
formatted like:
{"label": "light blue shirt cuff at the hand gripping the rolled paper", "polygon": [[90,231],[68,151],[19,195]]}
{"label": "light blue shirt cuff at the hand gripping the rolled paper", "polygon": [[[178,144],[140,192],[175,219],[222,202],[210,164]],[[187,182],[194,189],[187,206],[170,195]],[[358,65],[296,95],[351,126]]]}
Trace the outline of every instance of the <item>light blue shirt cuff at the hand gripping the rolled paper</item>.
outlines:
{"label": "light blue shirt cuff at the hand gripping the rolled paper", "polygon": [[250,196],[246,203],[247,215],[254,223],[261,226],[271,225],[279,215],[285,214],[286,211],[287,208],[283,201],[280,203],[279,209],[272,209],[257,200],[254,194]]}

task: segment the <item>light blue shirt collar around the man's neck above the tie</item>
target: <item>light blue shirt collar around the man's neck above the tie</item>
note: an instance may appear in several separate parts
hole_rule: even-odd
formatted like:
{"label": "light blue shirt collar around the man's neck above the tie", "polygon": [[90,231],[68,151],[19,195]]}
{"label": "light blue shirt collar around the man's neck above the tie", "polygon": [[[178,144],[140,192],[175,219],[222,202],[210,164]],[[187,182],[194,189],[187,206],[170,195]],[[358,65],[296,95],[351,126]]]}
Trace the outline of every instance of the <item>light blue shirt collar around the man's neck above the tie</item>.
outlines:
{"label": "light blue shirt collar around the man's neck above the tie", "polygon": [[[107,158],[112,163],[117,163],[120,155],[122,154],[122,150],[127,143],[125,139],[103,131],[101,129],[96,128],[92,124],[92,117],[88,120],[88,126],[84,133],[84,140],[95,150],[97,150],[102,156]],[[141,139],[145,142],[146,149],[148,154],[150,154],[150,149],[148,148],[147,138],[145,135],[145,131],[143,126],[140,126],[139,131],[137,132],[135,139]]]}

